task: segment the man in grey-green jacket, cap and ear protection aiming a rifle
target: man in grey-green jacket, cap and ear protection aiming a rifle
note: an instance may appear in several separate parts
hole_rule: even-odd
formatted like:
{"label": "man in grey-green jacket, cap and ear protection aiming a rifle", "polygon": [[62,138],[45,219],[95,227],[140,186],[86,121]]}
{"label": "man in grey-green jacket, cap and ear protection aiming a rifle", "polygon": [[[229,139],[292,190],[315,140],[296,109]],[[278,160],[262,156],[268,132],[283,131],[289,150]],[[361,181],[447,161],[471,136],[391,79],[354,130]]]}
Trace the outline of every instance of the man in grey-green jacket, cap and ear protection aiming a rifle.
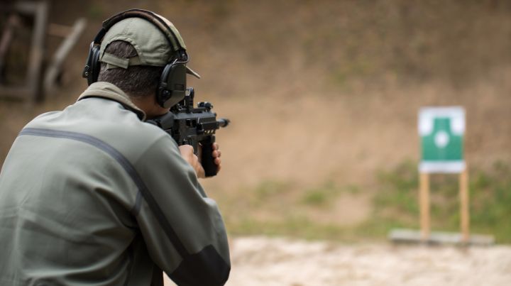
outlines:
{"label": "man in grey-green jacket, cap and ear protection aiming a rifle", "polygon": [[[197,180],[204,168],[192,145],[145,122],[185,99],[186,74],[197,75],[188,61],[162,16],[132,9],[104,21],[89,87],[28,123],[1,169],[0,285],[163,285],[162,270],[177,285],[224,285],[229,246]],[[219,147],[203,147],[216,174]]]}

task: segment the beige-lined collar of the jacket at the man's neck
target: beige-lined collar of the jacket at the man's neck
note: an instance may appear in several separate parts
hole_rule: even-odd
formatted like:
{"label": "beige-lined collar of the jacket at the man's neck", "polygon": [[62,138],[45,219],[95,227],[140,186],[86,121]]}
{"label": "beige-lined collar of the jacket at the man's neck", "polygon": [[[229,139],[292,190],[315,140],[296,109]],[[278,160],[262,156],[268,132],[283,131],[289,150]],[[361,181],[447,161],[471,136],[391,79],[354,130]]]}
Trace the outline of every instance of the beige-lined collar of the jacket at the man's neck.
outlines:
{"label": "beige-lined collar of the jacket at the man's neck", "polygon": [[94,82],[89,85],[85,91],[80,94],[78,100],[86,99],[89,97],[101,97],[104,99],[110,99],[119,102],[126,109],[135,112],[138,118],[141,121],[145,120],[145,113],[142,109],[139,109],[138,106],[133,104],[131,99],[125,94],[119,87],[116,87],[114,84],[110,82]]}

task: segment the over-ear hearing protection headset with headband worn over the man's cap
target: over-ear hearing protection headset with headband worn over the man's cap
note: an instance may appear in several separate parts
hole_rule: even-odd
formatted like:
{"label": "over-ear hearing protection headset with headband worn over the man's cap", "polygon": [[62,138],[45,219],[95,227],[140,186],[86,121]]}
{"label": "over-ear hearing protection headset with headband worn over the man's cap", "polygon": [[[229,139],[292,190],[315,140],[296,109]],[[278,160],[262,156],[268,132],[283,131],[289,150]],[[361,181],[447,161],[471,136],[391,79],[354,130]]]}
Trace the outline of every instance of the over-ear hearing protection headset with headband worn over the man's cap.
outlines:
{"label": "over-ear hearing protection headset with headband worn over the man's cap", "polygon": [[[114,24],[119,21],[132,17],[143,18],[162,31],[172,51],[176,54],[176,57],[163,68],[160,83],[156,91],[156,101],[158,104],[164,108],[170,108],[185,98],[187,87],[186,74],[190,72],[187,70],[186,66],[189,57],[186,53],[184,43],[182,43],[180,38],[176,35],[176,33],[179,32],[175,28],[171,28],[160,16],[151,11],[131,9],[106,19],[102,24],[101,30],[99,30],[90,45],[89,55],[87,56],[87,62],[85,63],[82,77],[87,78],[87,84],[89,85],[97,82],[101,67],[101,62],[99,62],[101,40],[111,26],[114,26]],[[192,74],[194,73],[192,72]],[[194,75],[198,76],[197,74]]]}

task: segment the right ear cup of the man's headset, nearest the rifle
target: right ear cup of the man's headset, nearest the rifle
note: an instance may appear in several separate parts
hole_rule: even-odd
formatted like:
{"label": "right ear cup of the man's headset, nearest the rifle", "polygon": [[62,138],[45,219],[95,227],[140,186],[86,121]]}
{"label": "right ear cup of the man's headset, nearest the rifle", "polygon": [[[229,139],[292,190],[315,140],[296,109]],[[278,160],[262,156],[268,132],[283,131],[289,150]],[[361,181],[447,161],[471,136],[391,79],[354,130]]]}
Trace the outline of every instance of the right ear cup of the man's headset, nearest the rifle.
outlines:
{"label": "right ear cup of the man's headset, nearest the rifle", "polygon": [[156,101],[163,108],[170,108],[185,99],[186,64],[172,63],[165,66],[156,92]]}

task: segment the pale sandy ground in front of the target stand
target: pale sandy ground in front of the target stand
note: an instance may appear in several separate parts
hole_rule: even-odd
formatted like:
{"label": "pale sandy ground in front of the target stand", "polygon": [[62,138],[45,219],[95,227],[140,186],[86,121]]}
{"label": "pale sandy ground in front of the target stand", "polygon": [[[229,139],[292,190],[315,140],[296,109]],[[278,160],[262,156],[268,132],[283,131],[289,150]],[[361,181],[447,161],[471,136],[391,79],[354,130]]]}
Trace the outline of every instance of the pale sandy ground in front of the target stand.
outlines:
{"label": "pale sandy ground in front of the target stand", "polygon": [[[344,245],[285,238],[231,241],[228,286],[511,285],[511,247]],[[165,286],[173,285],[170,280]]]}

